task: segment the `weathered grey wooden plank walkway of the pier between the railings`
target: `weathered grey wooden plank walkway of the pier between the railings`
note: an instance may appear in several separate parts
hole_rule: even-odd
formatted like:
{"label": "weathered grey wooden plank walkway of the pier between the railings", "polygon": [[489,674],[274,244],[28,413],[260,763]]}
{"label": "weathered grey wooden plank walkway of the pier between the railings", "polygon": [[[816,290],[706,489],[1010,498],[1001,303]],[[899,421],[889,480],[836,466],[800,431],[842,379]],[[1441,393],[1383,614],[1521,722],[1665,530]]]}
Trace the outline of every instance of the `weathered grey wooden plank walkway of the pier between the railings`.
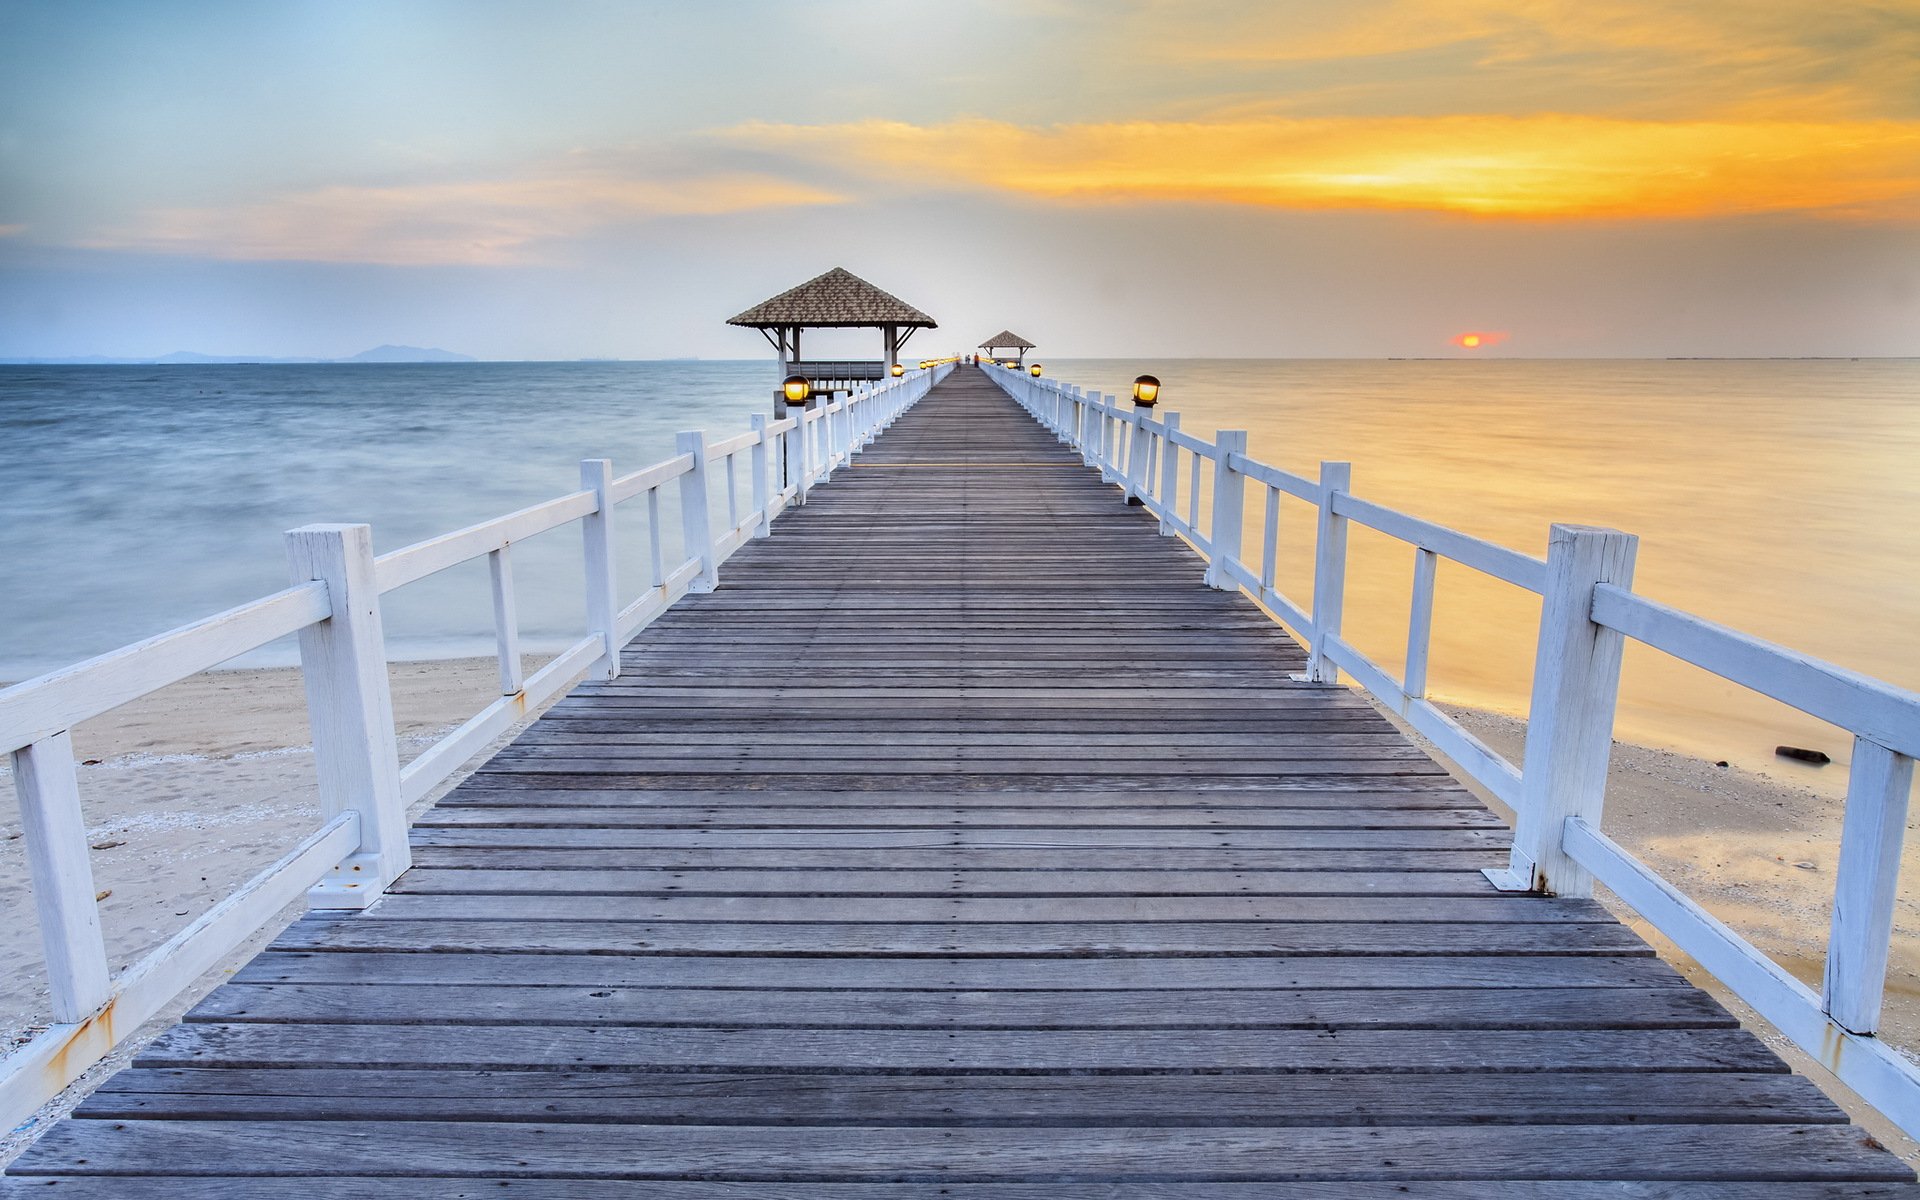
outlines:
{"label": "weathered grey wooden plank walkway of the pier between the railings", "polygon": [[1916,1194],[1302,664],[960,371],[0,1196]]}

